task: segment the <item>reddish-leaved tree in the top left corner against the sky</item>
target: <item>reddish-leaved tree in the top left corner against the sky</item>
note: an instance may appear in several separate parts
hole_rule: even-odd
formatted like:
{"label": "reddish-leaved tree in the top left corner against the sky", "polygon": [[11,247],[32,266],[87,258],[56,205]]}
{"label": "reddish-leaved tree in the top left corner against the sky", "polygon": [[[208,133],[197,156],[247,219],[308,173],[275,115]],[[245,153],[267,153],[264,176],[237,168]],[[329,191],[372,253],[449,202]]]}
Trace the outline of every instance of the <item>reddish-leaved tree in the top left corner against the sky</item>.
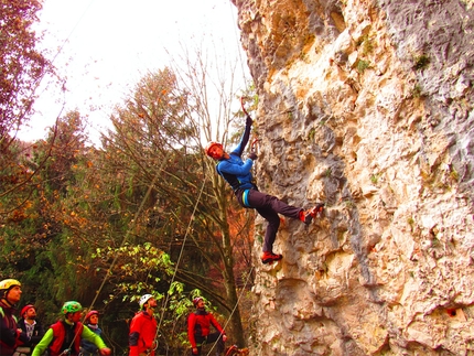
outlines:
{"label": "reddish-leaved tree in the top left corner against the sky", "polygon": [[30,180],[47,159],[32,170],[21,163],[31,145],[15,140],[32,114],[36,87],[45,73],[53,73],[31,30],[40,9],[36,0],[0,0],[0,223],[22,218],[25,198],[33,194]]}

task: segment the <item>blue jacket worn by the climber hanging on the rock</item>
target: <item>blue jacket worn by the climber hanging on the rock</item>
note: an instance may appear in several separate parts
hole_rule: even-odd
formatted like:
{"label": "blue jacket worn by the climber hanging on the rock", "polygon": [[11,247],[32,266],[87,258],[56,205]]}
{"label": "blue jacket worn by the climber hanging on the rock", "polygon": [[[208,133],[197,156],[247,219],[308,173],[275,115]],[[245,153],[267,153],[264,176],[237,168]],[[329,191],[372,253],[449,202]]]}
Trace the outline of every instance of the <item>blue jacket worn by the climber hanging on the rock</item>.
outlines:
{"label": "blue jacket worn by the climber hanging on the rock", "polygon": [[254,161],[247,159],[245,162],[241,159],[241,154],[248,143],[250,138],[251,121],[245,127],[243,137],[237,147],[229,153],[229,159],[223,159],[217,163],[216,170],[224,180],[233,187],[234,191],[237,190],[248,190],[254,188],[251,168]]}

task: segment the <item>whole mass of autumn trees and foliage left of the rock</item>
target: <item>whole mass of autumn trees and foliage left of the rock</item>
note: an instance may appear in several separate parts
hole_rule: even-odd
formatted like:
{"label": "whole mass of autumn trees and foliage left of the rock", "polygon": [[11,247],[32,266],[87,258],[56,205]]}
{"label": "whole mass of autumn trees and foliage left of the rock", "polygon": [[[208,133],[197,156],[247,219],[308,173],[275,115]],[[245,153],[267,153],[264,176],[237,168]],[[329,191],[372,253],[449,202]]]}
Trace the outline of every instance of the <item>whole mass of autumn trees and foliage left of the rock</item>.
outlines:
{"label": "whole mass of autumn trees and foliage left of the rock", "polygon": [[116,355],[127,353],[143,293],[161,302],[162,354],[185,353],[195,295],[243,343],[254,213],[236,204],[203,155],[203,93],[183,89],[176,72],[163,68],[117,105],[100,148],[87,142],[78,111],[58,118],[43,140],[21,142],[14,132],[52,71],[31,31],[40,9],[40,1],[0,0],[0,279],[22,282],[19,306],[34,303],[45,325],[66,300],[99,310]]}

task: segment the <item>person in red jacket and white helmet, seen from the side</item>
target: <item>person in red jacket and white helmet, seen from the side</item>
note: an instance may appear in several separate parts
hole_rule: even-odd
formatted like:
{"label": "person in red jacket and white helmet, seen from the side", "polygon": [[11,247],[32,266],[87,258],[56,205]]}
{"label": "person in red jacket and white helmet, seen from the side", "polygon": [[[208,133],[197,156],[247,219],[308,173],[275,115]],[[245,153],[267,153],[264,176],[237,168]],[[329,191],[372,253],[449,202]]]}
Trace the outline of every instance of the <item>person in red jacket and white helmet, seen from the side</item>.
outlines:
{"label": "person in red jacket and white helmet, seen from the side", "polygon": [[158,306],[157,300],[151,294],[144,294],[140,298],[139,304],[141,311],[133,316],[130,323],[129,356],[154,356],[158,323],[153,313]]}

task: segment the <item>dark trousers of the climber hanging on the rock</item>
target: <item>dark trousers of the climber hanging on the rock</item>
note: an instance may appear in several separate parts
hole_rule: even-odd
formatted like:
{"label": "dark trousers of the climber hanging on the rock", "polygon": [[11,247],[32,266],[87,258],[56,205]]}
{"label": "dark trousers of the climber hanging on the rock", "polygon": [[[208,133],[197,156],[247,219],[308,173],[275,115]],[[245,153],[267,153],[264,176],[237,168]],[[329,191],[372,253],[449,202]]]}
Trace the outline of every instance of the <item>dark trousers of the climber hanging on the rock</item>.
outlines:
{"label": "dark trousers of the climber hanging on the rock", "polygon": [[244,193],[245,190],[237,190],[235,192],[239,204],[244,207],[255,208],[268,222],[267,231],[265,233],[263,252],[272,252],[277,231],[280,227],[280,217],[278,214],[299,219],[302,208],[288,205],[276,196],[256,190],[249,190],[247,195],[249,206],[246,206],[243,201]]}

